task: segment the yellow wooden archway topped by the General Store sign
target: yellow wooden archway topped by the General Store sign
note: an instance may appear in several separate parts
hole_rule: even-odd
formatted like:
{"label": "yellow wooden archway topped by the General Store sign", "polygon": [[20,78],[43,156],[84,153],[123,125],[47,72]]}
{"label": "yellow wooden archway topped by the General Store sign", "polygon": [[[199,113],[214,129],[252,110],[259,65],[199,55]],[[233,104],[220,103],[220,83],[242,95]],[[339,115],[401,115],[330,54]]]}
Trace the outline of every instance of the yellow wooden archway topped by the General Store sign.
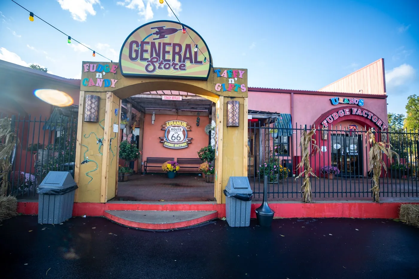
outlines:
{"label": "yellow wooden archway topped by the General Store sign", "polygon": [[[177,32],[182,28],[190,36]],[[162,32],[166,37],[160,38]],[[114,198],[122,99],[146,92],[181,91],[215,103],[217,203],[225,202],[222,189],[230,176],[247,176],[247,70],[215,68],[193,29],[171,21],[147,23],[124,42],[119,63],[83,62],[82,69],[76,202]]]}

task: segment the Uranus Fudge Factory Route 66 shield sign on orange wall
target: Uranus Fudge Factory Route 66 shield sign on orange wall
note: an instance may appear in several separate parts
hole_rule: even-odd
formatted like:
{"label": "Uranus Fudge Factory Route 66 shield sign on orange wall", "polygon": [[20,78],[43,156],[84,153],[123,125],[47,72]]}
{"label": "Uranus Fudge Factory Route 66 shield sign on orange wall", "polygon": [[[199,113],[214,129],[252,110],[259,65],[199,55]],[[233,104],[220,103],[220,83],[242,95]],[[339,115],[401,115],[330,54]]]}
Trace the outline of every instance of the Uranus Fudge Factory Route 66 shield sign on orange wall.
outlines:
{"label": "Uranus Fudge Factory Route 66 shield sign on orange wall", "polygon": [[188,147],[191,143],[192,138],[188,137],[191,126],[188,126],[188,122],[181,120],[166,121],[161,129],[164,130],[164,137],[160,137],[160,142],[163,143],[164,147],[182,149]]}

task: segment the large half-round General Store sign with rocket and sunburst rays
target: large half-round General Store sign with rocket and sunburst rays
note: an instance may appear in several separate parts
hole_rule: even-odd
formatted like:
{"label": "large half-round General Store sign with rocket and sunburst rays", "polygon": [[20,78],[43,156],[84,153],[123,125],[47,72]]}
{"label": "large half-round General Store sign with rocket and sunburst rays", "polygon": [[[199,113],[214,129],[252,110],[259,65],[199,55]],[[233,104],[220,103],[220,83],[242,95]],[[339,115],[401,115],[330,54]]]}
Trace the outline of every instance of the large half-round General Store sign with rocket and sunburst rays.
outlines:
{"label": "large half-round General Store sign with rocket and sunburst rays", "polygon": [[119,54],[125,77],[207,80],[211,63],[202,37],[175,21],[154,21],[138,27]]}

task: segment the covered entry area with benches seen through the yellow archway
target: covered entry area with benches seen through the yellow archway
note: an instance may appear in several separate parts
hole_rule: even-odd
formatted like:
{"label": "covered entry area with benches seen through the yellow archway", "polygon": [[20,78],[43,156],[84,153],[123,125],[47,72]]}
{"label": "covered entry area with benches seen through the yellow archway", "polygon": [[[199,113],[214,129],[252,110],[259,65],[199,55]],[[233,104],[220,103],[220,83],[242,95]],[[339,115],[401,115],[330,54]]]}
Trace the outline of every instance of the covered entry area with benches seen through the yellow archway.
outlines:
{"label": "covered entry area with benches seen through the yellow archway", "polygon": [[[175,90],[123,99],[121,113],[128,124],[121,136],[134,142],[141,155],[132,163],[135,174],[129,176],[129,181],[119,181],[114,200],[215,201],[214,177],[199,171],[203,161],[197,155],[202,148],[215,148],[215,111],[212,101]],[[133,141],[130,135],[134,135]],[[162,165],[169,160],[180,165],[174,179],[168,179],[162,171]],[[124,163],[120,160],[121,165]],[[214,168],[214,161],[209,165]]]}

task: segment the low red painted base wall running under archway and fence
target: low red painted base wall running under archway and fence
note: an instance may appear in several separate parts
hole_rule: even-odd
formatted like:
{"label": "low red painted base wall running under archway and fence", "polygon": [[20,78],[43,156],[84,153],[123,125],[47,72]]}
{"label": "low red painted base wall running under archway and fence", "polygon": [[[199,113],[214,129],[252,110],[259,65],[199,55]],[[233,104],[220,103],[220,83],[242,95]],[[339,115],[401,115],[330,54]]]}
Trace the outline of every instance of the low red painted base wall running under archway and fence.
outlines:
{"label": "low red painted base wall running under archway and fence", "polygon": [[[277,218],[398,218],[401,202],[325,202],[303,204],[299,202],[272,202],[269,207]],[[252,204],[251,218],[256,218]],[[225,217],[225,204],[124,204],[124,203],[75,203],[73,216],[103,216],[105,210],[163,210],[163,211],[210,211],[216,210],[218,218]],[[38,214],[37,202],[18,202],[18,213]]]}

